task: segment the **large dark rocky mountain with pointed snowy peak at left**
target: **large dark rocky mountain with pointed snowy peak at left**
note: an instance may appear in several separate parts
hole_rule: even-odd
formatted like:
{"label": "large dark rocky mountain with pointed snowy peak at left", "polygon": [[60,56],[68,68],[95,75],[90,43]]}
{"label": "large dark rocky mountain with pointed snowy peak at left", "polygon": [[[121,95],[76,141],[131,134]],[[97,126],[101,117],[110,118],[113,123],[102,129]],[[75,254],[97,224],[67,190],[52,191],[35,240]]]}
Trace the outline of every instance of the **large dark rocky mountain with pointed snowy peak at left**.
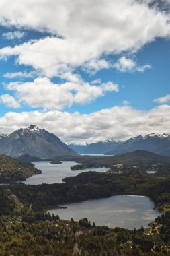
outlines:
{"label": "large dark rocky mountain with pointed snowy peak at left", "polygon": [[0,154],[13,158],[30,155],[36,158],[77,155],[77,152],[60,141],[53,133],[39,129],[36,125],[19,129],[10,135],[0,136]]}

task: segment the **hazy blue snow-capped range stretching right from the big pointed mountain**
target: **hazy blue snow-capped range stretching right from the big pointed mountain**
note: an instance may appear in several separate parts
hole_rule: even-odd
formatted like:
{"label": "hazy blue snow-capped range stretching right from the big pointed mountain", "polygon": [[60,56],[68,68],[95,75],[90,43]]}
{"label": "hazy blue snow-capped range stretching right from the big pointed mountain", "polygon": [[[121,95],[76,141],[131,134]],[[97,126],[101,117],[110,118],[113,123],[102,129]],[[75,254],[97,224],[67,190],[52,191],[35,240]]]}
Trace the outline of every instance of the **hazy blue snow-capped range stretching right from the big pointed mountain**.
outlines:
{"label": "hazy blue snow-capped range stretching right from the big pointed mountain", "polygon": [[80,154],[116,155],[133,152],[134,150],[146,150],[162,156],[170,156],[170,135],[165,133],[150,133],[147,135],[138,135],[126,141],[109,139],[97,143],[84,145],[71,144],[69,146]]}

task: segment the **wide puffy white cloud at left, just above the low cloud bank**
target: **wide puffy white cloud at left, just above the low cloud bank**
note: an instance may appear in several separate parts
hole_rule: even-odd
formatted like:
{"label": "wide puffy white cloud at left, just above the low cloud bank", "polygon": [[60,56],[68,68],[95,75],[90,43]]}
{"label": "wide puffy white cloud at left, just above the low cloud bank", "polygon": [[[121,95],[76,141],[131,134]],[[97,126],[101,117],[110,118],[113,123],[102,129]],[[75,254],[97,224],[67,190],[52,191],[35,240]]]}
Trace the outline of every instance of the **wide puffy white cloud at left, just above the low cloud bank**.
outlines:
{"label": "wide puffy white cloud at left, just above the low cloud bank", "polygon": [[84,82],[79,75],[65,74],[69,82],[54,84],[50,79],[37,78],[34,82],[11,82],[6,88],[14,90],[19,102],[32,108],[42,107],[62,109],[74,103],[87,104],[103,96],[105,92],[118,92],[118,85],[113,82],[91,85]]}

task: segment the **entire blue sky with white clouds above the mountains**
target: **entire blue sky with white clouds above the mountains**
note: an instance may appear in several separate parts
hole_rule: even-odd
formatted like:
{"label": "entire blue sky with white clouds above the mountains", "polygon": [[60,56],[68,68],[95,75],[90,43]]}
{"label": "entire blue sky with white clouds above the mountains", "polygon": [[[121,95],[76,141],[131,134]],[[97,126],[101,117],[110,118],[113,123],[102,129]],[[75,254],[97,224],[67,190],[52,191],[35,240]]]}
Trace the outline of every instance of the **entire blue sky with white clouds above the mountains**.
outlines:
{"label": "entire blue sky with white clouds above the mountains", "polygon": [[170,0],[0,0],[0,133],[170,133]]}

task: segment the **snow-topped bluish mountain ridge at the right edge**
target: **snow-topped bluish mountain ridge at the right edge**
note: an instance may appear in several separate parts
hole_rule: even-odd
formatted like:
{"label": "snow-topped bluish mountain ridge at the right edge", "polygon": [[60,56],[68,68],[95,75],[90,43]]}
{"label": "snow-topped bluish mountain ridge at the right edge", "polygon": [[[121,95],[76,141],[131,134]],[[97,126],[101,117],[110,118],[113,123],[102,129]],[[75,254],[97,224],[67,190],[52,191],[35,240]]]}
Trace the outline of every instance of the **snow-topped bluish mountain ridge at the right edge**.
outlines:
{"label": "snow-topped bluish mountain ridge at the right edge", "polygon": [[124,141],[114,150],[105,152],[105,154],[123,154],[134,150],[148,150],[162,156],[170,156],[170,135],[165,133],[138,135],[137,137]]}

